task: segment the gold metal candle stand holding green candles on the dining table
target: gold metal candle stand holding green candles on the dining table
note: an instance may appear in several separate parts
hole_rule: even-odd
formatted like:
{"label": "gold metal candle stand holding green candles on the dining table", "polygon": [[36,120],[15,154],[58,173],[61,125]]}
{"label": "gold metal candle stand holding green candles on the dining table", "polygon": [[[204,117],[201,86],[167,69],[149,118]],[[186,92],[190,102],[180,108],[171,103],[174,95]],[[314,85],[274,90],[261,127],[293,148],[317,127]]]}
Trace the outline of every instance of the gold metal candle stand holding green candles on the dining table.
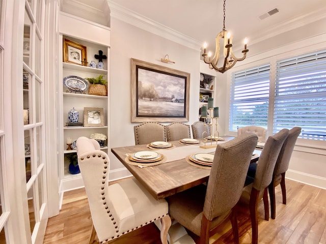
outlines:
{"label": "gold metal candle stand holding green candles on the dining table", "polygon": [[[204,145],[201,145],[200,147],[201,148],[205,148],[205,149],[208,149],[208,148],[213,148],[213,147],[216,147],[218,146],[218,141],[219,141],[219,138],[220,138],[220,132],[218,131],[218,116],[212,116],[211,114],[214,114],[213,113],[213,108],[208,108],[209,110],[209,115],[207,117],[201,117],[201,118],[204,118],[205,119],[205,126],[209,126],[209,136],[208,136],[208,133],[206,132],[206,129],[205,131],[203,132],[202,134],[202,137],[203,137],[203,142],[204,142]],[[215,130],[214,130],[214,133],[213,132],[213,127],[215,125]],[[210,143],[207,143],[206,145],[206,142],[208,140],[208,137],[210,137]],[[216,144],[213,143],[213,141],[216,141]],[[210,144],[210,145],[209,145]]]}

